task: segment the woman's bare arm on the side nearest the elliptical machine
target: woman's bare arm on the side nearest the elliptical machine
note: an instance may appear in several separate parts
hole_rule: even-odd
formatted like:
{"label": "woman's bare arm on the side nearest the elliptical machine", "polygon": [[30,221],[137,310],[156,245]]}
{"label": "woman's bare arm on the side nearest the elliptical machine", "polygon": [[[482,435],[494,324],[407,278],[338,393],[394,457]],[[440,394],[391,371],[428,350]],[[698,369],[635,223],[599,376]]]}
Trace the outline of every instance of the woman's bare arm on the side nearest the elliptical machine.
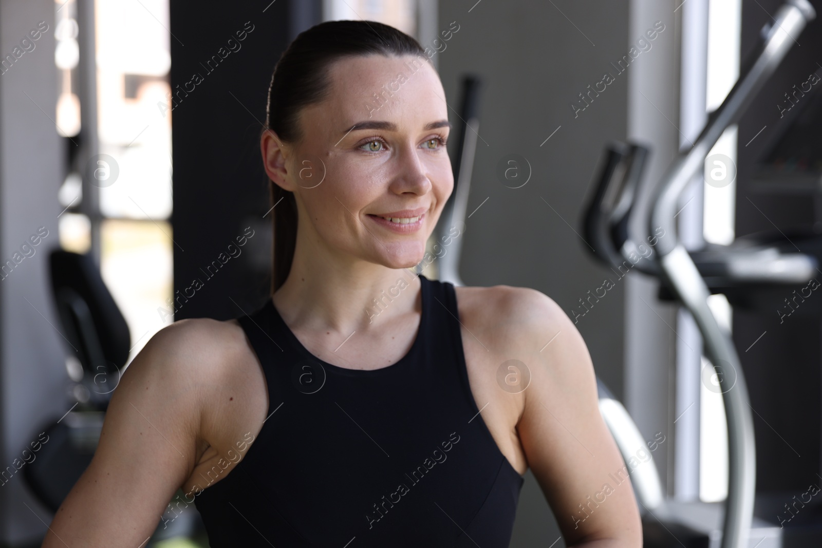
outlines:
{"label": "woman's bare arm on the side nearest the elliptical machine", "polygon": [[515,337],[532,375],[517,431],[566,544],[640,548],[639,509],[599,413],[588,348],[551,298],[533,289],[517,293],[514,316],[522,323]]}

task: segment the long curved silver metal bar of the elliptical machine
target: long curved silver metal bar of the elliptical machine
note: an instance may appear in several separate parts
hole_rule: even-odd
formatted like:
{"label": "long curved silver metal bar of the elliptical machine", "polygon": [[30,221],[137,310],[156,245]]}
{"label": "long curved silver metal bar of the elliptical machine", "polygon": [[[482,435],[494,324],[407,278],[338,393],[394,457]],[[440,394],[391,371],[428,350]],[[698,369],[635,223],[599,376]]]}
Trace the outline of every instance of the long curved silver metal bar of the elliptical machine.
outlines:
{"label": "long curved silver metal bar of the elliptical machine", "polygon": [[806,23],[815,17],[807,0],[788,0],[779,8],[774,25],[760,41],[750,62],[741,71],[736,85],[723,104],[709,117],[708,124],[690,150],[683,151],[658,182],[649,233],[653,228],[665,229],[666,237],[658,242],[657,260],[660,274],[673,292],[693,315],[704,338],[705,355],[720,377],[732,375],[735,382],[723,386],[728,434],[728,494],[723,523],[722,548],[742,548],[754,511],[756,486],[756,455],[753,418],[745,378],[732,340],[717,323],[708,307],[709,289],[688,251],[677,241],[674,215],[677,199],[688,182],[704,166],[704,159],[723,131],[741,116],[756,91],[774,72]]}

